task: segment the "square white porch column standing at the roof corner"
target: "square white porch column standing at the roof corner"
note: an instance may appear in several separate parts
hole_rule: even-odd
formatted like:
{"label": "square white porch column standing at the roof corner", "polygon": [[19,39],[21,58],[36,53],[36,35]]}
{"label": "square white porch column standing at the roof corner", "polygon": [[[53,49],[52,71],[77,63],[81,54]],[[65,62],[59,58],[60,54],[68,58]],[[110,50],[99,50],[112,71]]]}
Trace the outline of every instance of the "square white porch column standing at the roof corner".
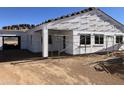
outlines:
{"label": "square white porch column standing at the roof corner", "polygon": [[48,57],[48,29],[43,28],[42,30],[42,56]]}

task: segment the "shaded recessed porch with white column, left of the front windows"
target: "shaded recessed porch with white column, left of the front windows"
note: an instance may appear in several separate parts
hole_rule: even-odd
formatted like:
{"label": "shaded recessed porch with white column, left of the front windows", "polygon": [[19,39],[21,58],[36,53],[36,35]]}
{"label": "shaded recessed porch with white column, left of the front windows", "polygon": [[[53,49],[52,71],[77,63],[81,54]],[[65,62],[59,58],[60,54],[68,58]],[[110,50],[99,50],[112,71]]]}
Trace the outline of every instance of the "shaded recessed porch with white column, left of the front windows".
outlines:
{"label": "shaded recessed porch with white column, left of the front windows", "polygon": [[[31,42],[30,42],[31,41]],[[28,36],[29,50],[42,53],[42,57],[73,54],[73,31],[69,29],[42,28]]]}

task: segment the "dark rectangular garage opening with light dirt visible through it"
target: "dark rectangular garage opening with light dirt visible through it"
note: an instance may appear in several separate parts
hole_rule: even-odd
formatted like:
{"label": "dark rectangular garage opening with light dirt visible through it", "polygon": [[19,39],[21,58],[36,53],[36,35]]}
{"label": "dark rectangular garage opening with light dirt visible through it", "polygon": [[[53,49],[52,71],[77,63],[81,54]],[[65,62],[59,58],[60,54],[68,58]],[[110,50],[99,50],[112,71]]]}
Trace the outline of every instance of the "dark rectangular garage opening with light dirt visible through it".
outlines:
{"label": "dark rectangular garage opening with light dirt visible through it", "polygon": [[20,36],[3,36],[3,50],[20,49]]}

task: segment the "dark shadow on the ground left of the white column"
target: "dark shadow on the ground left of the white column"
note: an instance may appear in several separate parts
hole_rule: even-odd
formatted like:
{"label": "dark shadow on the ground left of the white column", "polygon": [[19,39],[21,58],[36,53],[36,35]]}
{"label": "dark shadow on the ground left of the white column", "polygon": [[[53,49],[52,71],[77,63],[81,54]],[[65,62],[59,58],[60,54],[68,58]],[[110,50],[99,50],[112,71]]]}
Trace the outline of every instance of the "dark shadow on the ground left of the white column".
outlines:
{"label": "dark shadow on the ground left of the white column", "polygon": [[32,53],[26,50],[5,50],[0,52],[0,62],[11,62],[30,59],[42,59],[42,53]]}

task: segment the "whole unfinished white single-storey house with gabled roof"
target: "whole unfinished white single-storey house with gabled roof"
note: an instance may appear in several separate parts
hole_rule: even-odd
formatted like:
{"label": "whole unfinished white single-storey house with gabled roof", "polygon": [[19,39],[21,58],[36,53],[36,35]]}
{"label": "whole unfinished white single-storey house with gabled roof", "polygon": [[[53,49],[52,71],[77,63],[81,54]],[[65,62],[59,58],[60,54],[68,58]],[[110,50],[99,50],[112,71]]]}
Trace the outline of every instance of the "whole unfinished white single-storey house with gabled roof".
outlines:
{"label": "whole unfinished white single-storey house with gabled roof", "polygon": [[4,37],[20,37],[19,47],[31,52],[58,51],[71,55],[124,49],[124,25],[97,8],[51,19],[27,32],[0,31],[0,49]]}

